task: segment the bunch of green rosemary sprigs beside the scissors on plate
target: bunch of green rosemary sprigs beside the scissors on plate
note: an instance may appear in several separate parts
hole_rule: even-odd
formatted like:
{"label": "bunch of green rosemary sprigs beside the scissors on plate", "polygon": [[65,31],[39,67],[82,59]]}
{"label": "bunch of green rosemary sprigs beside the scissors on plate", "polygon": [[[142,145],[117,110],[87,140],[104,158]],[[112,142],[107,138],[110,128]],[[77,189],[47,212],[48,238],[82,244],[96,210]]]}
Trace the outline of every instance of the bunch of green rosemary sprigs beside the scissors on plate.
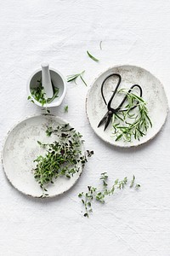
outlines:
{"label": "bunch of green rosemary sprigs beside the scissors on plate", "polygon": [[[113,115],[113,137],[116,137],[116,141],[123,139],[131,142],[133,138],[140,140],[145,136],[149,127],[152,127],[146,102],[142,97],[132,92],[127,93],[124,89],[119,90],[119,93],[127,94],[127,106],[125,107],[127,110],[120,110]],[[137,107],[132,109],[135,105]]]}

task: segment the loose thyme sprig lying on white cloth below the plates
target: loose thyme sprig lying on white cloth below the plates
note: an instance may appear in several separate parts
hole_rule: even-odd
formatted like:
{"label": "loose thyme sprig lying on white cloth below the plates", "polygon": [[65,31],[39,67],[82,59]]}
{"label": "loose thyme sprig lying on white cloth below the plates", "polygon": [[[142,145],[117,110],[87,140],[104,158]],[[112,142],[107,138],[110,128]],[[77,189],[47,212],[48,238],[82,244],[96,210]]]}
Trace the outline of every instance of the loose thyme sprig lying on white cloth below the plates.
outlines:
{"label": "loose thyme sprig lying on white cloth below the plates", "polygon": [[[133,187],[134,184],[134,175],[133,180],[130,183],[130,188]],[[105,196],[113,195],[116,189],[124,189],[125,185],[127,185],[127,177],[124,177],[122,180],[116,179],[115,183],[111,186],[111,189],[108,189],[108,175],[107,172],[103,172],[100,174],[100,180],[102,181],[102,188],[97,189],[92,186],[88,186],[88,192],[82,192],[78,195],[81,198],[82,204],[85,208],[84,217],[89,217],[90,212],[93,212],[92,202],[99,201],[100,203],[105,203]],[[140,185],[136,184],[135,189],[139,189]]]}

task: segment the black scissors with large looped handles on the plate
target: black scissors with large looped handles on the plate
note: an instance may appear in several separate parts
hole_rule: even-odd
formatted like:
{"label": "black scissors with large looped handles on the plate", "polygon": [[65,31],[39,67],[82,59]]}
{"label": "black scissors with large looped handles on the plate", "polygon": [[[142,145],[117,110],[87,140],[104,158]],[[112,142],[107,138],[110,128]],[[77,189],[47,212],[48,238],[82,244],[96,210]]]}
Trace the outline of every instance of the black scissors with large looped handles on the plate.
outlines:
{"label": "black scissors with large looped handles on the plate", "polygon": [[[111,99],[109,100],[109,102],[107,104],[107,102],[105,101],[105,96],[104,96],[103,90],[104,90],[105,81],[107,79],[110,79],[112,76],[116,76],[118,78],[118,83],[116,84],[116,89],[113,91]],[[114,96],[116,95],[116,91],[118,90],[118,87],[121,84],[121,81],[122,81],[122,77],[121,77],[120,74],[112,73],[111,75],[106,77],[105,80],[103,81],[103,83],[101,84],[101,96],[102,96],[102,98],[103,98],[103,100],[105,102],[105,105],[107,105],[108,111],[107,111],[107,113],[105,113],[105,116],[103,117],[103,119],[100,120],[98,127],[105,123],[104,131],[107,128],[107,126],[109,125],[109,123],[111,122],[111,118],[112,118],[114,113],[127,111],[127,109],[121,109],[123,103],[127,100],[127,95],[122,99],[122,102],[120,103],[120,105],[117,108],[111,108],[111,102],[112,102]],[[139,84],[133,84],[133,86],[131,86],[130,89],[127,91],[127,94],[130,93],[131,90],[133,90],[134,87],[138,87],[139,88],[139,92],[140,92],[139,96],[141,97],[142,96],[142,88],[140,87]],[[139,102],[137,102],[137,104],[135,106],[133,106],[133,108],[136,108],[138,106],[138,103]],[[133,110],[133,108],[130,108],[130,110]]]}

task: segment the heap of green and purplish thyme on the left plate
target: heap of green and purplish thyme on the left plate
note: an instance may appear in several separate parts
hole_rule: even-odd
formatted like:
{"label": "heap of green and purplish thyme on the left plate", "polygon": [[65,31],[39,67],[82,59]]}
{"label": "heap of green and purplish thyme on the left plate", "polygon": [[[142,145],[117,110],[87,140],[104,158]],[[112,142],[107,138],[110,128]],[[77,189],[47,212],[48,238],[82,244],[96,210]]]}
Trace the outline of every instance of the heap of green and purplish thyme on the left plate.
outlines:
{"label": "heap of green and purplish thyme on the left plate", "polygon": [[37,142],[40,147],[46,149],[44,156],[39,155],[34,160],[37,166],[33,169],[34,177],[42,191],[47,191],[48,184],[54,183],[54,179],[58,177],[74,176],[87,162],[86,154],[81,151],[83,141],[79,132],[66,124],[58,125],[55,129],[48,127],[47,136],[52,133],[58,137],[54,143]]}

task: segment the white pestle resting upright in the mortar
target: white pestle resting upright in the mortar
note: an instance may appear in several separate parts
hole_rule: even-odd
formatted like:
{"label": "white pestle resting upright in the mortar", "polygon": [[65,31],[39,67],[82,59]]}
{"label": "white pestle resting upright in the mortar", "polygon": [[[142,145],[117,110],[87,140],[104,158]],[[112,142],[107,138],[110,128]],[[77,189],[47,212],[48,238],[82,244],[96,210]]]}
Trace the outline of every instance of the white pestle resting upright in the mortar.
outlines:
{"label": "white pestle resting upright in the mortar", "polygon": [[54,96],[53,86],[51,84],[51,77],[49,73],[49,64],[46,62],[42,63],[42,87],[46,98],[52,98]]}

